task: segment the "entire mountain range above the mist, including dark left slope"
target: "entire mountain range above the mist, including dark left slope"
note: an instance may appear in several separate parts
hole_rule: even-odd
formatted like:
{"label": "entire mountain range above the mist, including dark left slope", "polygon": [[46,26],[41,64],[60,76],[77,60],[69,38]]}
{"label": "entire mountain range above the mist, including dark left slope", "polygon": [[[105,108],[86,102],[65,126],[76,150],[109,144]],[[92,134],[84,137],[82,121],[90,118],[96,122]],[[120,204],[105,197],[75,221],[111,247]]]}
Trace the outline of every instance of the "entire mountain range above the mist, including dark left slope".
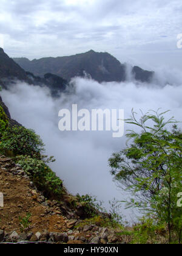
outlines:
{"label": "entire mountain range above the mist, including dark left slope", "polygon": [[[136,80],[150,82],[154,73],[134,66],[132,74]],[[98,82],[121,82],[127,77],[126,65],[107,52],[91,50],[69,57],[30,61],[25,58],[11,59],[0,48],[0,85],[4,88],[8,88],[15,80],[20,80],[48,87],[52,96],[57,96],[69,85],[67,81],[75,76],[92,77]]]}

